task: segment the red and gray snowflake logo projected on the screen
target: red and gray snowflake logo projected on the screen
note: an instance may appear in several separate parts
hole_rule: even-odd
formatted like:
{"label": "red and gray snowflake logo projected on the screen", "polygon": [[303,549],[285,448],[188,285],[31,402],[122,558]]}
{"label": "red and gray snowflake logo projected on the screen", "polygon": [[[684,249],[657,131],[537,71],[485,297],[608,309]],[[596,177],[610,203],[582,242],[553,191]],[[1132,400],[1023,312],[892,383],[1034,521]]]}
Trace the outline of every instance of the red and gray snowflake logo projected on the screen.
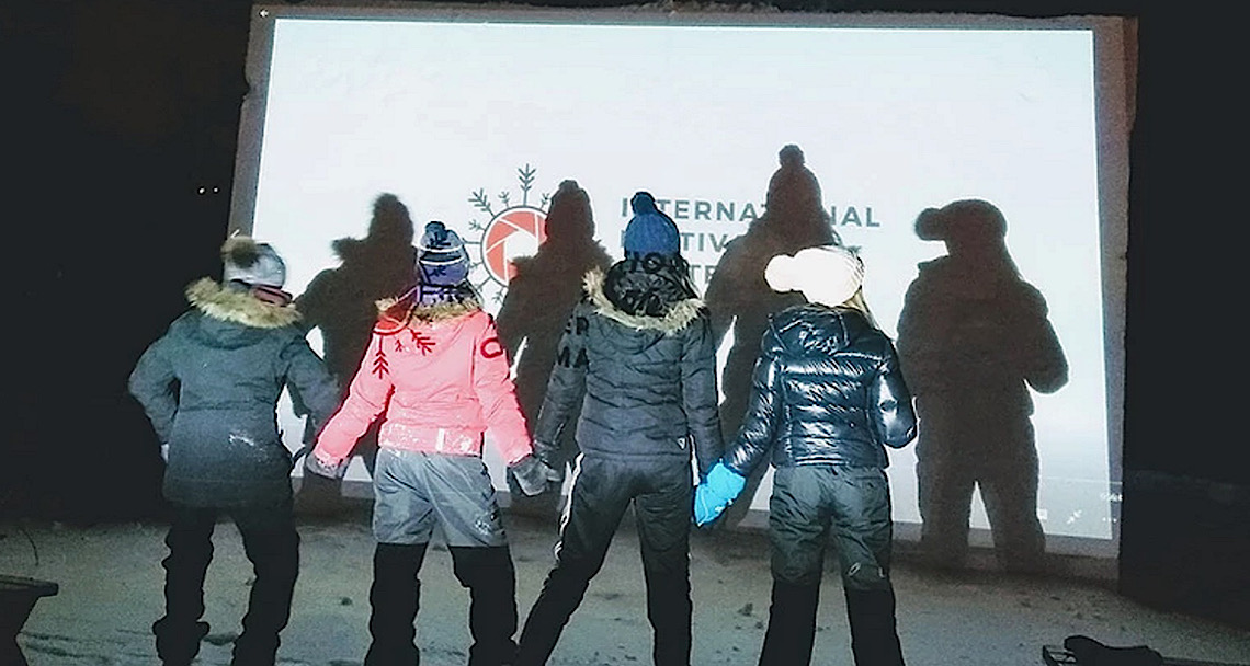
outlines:
{"label": "red and gray snowflake logo projected on the screen", "polygon": [[495,195],[495,202],[501,206],[498,212],[485,187],[469,197],[469,202],[488,216],[485,222],[476,217],[469,222],[469,229],[479,236],[476,242],[465,241],[465,245],[478,246],[479,259],[470,275],[482,297],[495,305],[502,302],[508,282],[516,275],[512,260],[532,256],[546,240],[546,206],[551,195],[544,194],[536,206],[530,205],[530,190],[536,172],[530,165],[516,170],[521,201],[512,204],[512,194],[504,190]]}

